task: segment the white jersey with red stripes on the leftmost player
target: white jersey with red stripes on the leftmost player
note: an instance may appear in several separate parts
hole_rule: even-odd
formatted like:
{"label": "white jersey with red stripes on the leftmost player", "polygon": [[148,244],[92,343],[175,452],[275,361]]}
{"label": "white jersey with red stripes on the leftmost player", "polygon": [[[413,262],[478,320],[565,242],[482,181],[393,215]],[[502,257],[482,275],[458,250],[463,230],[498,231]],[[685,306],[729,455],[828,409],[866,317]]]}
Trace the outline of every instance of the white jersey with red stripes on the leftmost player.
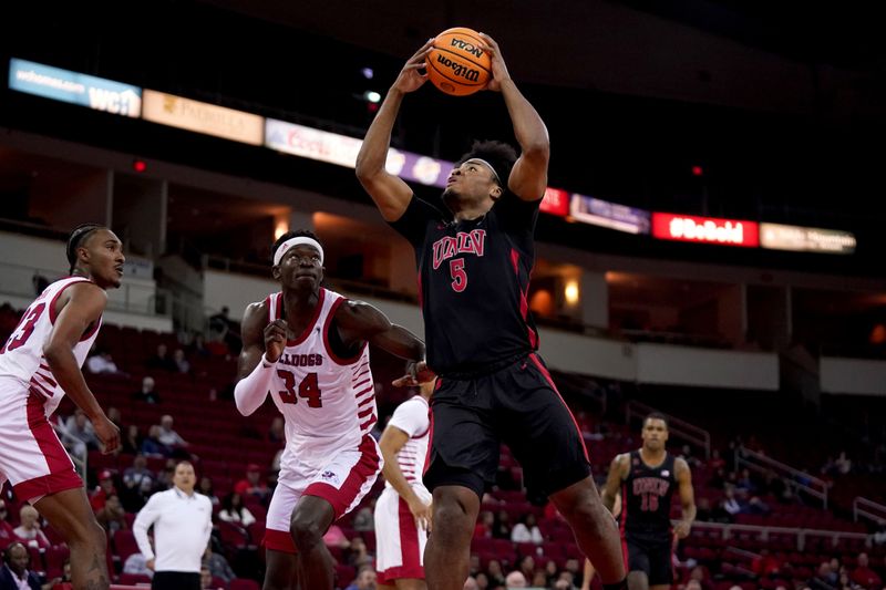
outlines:
{"label": "white jersey with red stripes on the leftmost player", "polygon": [[[25,310],[21,321],[0,349],[0,377],[13,377],[22,384],[22,392],[35,392],[45,398],[47,416],[59,406],[64,395],[55,382],[43,356],[43,345],[49,341],[55,323],[55,303],[66,288],[78,282],[91,282],[84,277],[68,277],[47,287],[40,297]],[[74,346],[78,365],[83,366],[86,355],[99,335],[102,320],[95,322],[90,332],[83,334]]]}

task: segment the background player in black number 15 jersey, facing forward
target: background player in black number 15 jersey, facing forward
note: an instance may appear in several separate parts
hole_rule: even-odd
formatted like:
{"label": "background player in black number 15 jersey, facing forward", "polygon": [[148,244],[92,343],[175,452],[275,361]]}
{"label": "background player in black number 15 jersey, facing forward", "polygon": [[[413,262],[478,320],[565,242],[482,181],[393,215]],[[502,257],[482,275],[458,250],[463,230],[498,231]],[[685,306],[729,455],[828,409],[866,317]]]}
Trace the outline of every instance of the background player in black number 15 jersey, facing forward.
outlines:
{"label": "background player in black number 15 jersey, facing forward", "polygon": [[[612,459],[602,490],[602,501],[610,510],[621,488],[621,538],[628,560],[630,590],[664,590],[673,581],[671,553],[674,537],[689,535],[696,520],[696,495],[692,476],[684,459],[664,449],[668,421],[650,414],[643,421],[643,444],[638,451]],[[680,494],[682,519],[671,529],[671,497]]]}

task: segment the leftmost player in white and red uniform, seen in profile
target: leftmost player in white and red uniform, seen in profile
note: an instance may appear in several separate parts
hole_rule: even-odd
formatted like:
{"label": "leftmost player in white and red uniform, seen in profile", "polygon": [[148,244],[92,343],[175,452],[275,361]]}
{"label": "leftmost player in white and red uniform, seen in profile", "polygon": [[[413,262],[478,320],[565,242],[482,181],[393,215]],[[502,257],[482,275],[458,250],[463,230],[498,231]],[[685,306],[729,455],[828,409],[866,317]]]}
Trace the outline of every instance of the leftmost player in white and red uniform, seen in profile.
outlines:
{"label": "leftmost player in white and red uniform, seen in profile", "polygon": [[64,394],[85,412],[110,453],[120,429],[107,420],[81,368],[102,324],[105,289],[120,287],[123,245],[90,224],[68,238],[70,277],[24,311],[0,349],[0,485],[31,503],[71,548],[73,588],[109,587],[104,530],[95,521],[83,480],[49,423]]}

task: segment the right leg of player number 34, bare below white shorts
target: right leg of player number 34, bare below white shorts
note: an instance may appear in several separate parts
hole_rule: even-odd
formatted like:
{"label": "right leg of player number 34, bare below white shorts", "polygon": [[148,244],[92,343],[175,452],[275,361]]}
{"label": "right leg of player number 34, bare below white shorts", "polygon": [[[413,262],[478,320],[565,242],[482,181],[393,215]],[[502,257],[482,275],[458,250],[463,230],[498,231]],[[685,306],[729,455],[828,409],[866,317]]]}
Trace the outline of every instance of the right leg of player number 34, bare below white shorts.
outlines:
{"label": "right leg of player number 34, bare below white shorts", "polygon": [[334,561],[323,535],[334,519],[332,505],[323,498],[305,495],[296,505],[289,532],[298,549],[299,580],[305,588],[332,590]]}

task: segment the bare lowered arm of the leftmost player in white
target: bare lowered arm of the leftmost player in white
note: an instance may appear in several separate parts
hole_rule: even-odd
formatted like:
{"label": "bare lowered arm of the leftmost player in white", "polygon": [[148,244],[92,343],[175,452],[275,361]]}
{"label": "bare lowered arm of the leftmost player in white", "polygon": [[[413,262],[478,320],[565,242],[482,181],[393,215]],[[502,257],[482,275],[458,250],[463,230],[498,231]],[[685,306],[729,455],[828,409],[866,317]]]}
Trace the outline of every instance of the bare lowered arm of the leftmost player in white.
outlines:
{"label": "bare lowered arm of the leftmost player in white", "polygon": [[89,416],[95,427],[95,434],[104,445],[105,453],[110,453],[120,446],[120,428],[107,420],[86,385],[74,356],[74,346],[89,327],[102,317],[106,301],[107,294],[104,290],[92,282],[83,281],[69,287],[55,302],[59,315],[43,345],[43,355],[59,385]]}

